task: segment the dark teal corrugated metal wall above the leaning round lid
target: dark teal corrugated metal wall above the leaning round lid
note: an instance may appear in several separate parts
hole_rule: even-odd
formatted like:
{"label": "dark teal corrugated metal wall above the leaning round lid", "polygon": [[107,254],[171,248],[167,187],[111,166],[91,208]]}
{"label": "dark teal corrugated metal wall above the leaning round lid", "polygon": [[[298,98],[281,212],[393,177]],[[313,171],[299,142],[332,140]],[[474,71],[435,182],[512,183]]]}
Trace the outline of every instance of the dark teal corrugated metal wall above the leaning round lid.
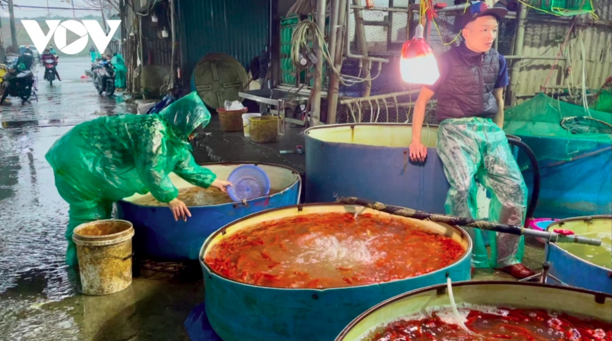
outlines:
{"label": "dark teal corrugated metal wall above the leaning round lid", "polygon": [[247,66],[268,42],[268,0],[179,0],[182,67],[191,78],[204,54],[230,54]]}

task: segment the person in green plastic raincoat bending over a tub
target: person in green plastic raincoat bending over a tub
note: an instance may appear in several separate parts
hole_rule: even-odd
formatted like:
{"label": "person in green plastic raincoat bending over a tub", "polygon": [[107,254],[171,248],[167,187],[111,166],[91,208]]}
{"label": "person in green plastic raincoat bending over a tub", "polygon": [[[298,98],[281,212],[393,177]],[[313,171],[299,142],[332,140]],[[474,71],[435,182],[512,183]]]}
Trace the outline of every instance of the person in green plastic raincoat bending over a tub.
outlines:
{"label": "person in green plastic raincoat bending over a tub", "polygon": [[45,155],[53,167],[60,196],[70,204],[66,263],[76,265],[72,232],[84,222],[111,218],[113,202],[151,192],[168,203],[174,219],[191,213],[168,175],[193,185],[226,192],[231,183],[198,166],[190,153],[194,130],[206,127],[211,114],[196,92],[157,115],[100,117],[77,125]]}

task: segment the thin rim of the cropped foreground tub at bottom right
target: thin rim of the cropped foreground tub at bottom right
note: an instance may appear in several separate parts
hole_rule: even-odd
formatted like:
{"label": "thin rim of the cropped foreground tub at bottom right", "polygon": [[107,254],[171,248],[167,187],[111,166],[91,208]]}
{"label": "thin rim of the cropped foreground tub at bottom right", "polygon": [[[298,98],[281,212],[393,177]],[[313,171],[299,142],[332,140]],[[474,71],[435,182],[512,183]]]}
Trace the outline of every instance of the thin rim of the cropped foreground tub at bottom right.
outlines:
{"label": "thin rim of the cropped foreground tub at bottom right", "polygon": [[[454,287],[463,287],[463,286],[466,286],[466,285],[523,285],[525,287],[543,287],[543,288],[550,288],[550,289],[554,289],[554,290],[567,290],[567,291],[571,291],[571,292],[579,292],[579,293],[586,293],[586,294],[592,295],[592,296],[594,296],[594,299],[595,299],[596,302],[602,301],[602,298],[603,298],[603,302],[604,303],[605,303],[605,299],[606,298],[612,298],[612,295],[610,295],[608,293],[594,292],[592,290],[586,290],[586,289],[583,289],[583,288],[561,287],[561,286],[557,286],[557,285],[548,285],[548,284],[535,283],[535,282],[518,282],[518,281],[461,281],[461,282],[453,282],[453,284],[452,284],[453,288]],[[416,290],[411,290],[409,292],[402,293],[402,294],[397,295],[395,297],[386,299],[385,301],[376,304],[376,306],[373,306],[370,309],[365,310],[365,312],[362,312],[361,314],[359,314],[358,317],[354,318],[353,321],[351,321],[351,323],[349,323],[348,325],[346,325],[346,327],[344,329],[342,329],[342,331],[340,332],[340,334],[338,334],[338,336],[334,339],[334,341],[340,341],[340,340],[344,339],[346,337],[346,334],[348,334],[348,332],[351,331],[351,329],[353,329],[356,325],[361,323],[361,321],[363,321],[365,317],[367,317],[372,312],[375,312],[378,309],[382,309],[383,307],[387,306],[388,304],[395,303],[397,301],[401,301],[402,299],[408,298],[409,296],[418,295],[420,293],[425,293],[425,292],[429,292],[429,291],[433,291],[433,290],[436,290],[436,292],[439,295],[444,290],[446,290],[446,288],[447,288],[447,284],[430,285],[429,287],[424,287],[424,288],[420,288],[420,289],[416,289]]]}

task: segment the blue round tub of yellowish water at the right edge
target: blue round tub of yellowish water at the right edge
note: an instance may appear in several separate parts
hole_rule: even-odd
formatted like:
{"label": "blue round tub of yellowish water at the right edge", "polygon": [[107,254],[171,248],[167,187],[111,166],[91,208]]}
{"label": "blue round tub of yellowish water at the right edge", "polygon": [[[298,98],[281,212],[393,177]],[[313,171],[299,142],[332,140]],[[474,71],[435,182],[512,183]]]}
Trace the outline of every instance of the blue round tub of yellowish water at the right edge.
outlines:
{"label": "blue round tub of yellowish water at the right edge", "polygon": [[[597,238],[597,233],[612,233],[612,216],[588,216],[578,218],[562,219],[550,224],[547,230],[567,229],[573,230],[578,235],[589,233],[589,238]],[[595,233],[593,235],[592,233]],[[600,237],[599,237],[600,238]],[[599,246],[603,248],[604,246]],[[612,269],[596,265],[584,259],[583,255],[572,254],[561,248],[558,244],[548,243],[546,255],[550,263],[550,274],[557,277],[559,281],[572,287],[585,288],[596,292],[612,295]],[[580,257],[582,256],[582,257]],[[608,254],[612,257],[612,253]],[[550,284],[558,284],[553,279],[548,279]]]}

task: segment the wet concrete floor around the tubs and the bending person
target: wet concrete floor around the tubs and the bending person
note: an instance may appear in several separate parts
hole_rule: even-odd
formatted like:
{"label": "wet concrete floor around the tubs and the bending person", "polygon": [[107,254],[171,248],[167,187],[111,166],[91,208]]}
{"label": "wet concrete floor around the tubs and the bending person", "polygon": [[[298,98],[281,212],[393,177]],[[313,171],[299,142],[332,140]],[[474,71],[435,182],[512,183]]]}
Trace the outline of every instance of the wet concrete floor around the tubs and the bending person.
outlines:
{"label": "wet concrete floor around the tubs and the bending person", "polygon": [[[64,265],[68,205],[44,155],[72,125],[135,109],[120,97],[99,97],[80,79],[88,67],[86,59],[65,58],[63,81],[39,84],[38,102],[0,107],[0,340],[187,340],[183,322],[203,301],[197,274],[184,279],[143,266],[131,287],[94,297],[80,294],[78,274]],[[304,155],[278,153],[303,144],[298,128],[275,144],[256,144],[223,133],[214,117],[194,154],[200,163],[257,161],[304,172]],[[541,250],[526,248],[526,265],[539,268],[542,260]],[[478,270],[475,279],[512,278]]]}

